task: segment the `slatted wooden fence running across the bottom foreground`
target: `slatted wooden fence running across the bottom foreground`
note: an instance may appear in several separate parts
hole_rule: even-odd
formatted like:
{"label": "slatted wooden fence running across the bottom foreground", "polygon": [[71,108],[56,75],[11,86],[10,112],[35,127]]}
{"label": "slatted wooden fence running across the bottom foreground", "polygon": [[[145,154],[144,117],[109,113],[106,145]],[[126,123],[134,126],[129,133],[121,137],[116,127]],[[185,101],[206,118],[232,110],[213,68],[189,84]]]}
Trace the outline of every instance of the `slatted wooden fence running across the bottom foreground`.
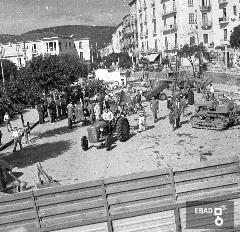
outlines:
{"label": "slatted wooden fence running across the bottom foreground", "polygon": [[240,231],[239,168],[238,158],[227,158],[4,195],[0,231],[191,231],[186,200],[234,201]]}

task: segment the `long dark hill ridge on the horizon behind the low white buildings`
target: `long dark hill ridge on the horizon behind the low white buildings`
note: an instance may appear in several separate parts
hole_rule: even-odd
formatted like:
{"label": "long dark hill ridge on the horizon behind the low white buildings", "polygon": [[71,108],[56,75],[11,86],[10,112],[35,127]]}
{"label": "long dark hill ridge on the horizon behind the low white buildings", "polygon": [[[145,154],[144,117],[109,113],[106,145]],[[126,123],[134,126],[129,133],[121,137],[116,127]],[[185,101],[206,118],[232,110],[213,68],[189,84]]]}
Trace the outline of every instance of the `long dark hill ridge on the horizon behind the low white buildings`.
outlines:
{"label": "long dark hill ridge on the horizon behind the low white buildings", "polygon": [[45,35],[76,35],[82,38],[89,38],[93,44],[97,43],[98,49],[107,46],[116,27],[112,26],[88,26],[88,25],[64,25],[49,28],[42,28],[28,31],[22,35],[0,35],[0,43],[17,42],[22,40],[32,40],[42,38]]}

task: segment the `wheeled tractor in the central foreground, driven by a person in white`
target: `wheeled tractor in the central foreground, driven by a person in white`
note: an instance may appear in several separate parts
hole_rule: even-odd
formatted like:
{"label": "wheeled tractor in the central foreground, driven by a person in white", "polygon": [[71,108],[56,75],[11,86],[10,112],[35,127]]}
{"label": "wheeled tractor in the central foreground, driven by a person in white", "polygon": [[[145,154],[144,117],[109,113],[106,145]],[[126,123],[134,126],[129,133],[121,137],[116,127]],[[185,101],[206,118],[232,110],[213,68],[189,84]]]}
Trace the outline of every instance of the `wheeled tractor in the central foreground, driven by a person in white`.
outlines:
{"label": "wheeled tractor in the central foreground, driven by a person in white", "polygon": [[87,128],[88,137],[83,136],[81,146],[84,151],[88,150],[88,142],[99,143],[103,142],[107,151],[111,149],[111,138],[115,135],[120,142],[125,142],[129,139],[130,125],[128,119],[120,115],[115,117],[113,122],[109,123],[104,120],[99,120]]}

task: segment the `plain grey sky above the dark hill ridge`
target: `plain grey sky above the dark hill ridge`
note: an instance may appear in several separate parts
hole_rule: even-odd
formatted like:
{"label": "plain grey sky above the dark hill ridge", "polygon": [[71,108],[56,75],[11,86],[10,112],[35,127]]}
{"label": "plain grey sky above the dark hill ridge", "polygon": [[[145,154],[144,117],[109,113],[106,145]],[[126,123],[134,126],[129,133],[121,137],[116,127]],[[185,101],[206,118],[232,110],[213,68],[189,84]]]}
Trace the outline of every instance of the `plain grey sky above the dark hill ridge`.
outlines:
{"label": "plain grey sky above the dark hill ridge", "polygon": [[129,0],[0,0],[0,34],[61,25],[117,26]]}

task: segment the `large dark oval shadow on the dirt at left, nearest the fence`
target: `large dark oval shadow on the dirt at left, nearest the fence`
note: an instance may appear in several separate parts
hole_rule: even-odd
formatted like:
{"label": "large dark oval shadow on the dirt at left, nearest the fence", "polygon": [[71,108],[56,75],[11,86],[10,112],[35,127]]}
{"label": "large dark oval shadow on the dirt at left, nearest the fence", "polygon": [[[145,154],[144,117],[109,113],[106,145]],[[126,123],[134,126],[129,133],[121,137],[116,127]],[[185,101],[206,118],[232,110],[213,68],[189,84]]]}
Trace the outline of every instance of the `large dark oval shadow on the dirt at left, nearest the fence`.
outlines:
{"label": "large dark oval shadow on the dirt at left, nearest the fence", "polygon": [[44,143],[40,145],[31,145],[23,148],[21,151],[4,157],[3,160],[13,167],[25,168],[35,163],[44,162],[47,159],[62,155],[71,147],[70,141],[58,141],[54,143]]}

